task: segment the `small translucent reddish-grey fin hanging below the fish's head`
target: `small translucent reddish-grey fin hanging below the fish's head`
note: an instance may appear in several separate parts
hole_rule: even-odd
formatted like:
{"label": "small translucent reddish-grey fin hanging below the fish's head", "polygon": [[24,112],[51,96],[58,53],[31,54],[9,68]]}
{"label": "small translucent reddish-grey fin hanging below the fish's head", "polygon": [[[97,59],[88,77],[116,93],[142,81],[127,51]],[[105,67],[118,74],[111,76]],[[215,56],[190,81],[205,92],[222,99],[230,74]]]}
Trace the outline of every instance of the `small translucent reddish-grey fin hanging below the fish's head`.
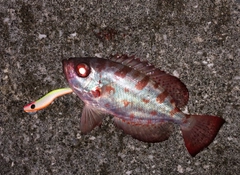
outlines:
{"label": "small translucent reddish-grey fin hanging below the fish's head", "polygon": [[80,130],[83,134],[92,131],[96,126],[100,126],[103,119],[103,112],[94,107],[85,105],[82,111]]}

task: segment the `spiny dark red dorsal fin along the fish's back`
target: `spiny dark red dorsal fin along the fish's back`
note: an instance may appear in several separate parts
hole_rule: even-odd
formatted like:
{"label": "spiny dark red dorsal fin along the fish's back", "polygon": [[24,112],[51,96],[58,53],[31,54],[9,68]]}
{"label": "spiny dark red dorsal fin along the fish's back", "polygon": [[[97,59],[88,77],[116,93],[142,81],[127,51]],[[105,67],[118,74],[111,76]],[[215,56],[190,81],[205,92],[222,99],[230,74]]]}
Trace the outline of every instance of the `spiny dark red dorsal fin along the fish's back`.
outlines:
{"label": "spiny dark red dorsal fin along the fish's back", "polygon": [[177,107],[181,108],[187,104],[189,98],[188,89],[177,77],[155,68],[147,61],[140,61],[139,58],[135,58],[134,56],[116,54],[109,59],[148,75],[170,94]]}

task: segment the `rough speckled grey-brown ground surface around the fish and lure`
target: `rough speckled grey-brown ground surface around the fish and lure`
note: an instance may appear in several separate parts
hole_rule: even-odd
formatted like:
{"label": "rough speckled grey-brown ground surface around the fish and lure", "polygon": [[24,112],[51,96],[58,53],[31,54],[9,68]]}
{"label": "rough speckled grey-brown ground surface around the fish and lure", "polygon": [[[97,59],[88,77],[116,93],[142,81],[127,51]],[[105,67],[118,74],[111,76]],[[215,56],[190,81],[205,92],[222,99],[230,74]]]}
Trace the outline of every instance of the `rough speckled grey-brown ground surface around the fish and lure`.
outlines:
{"label": "rough speckled grey-brown ground surface around the fish and lure", "polygon": [[[240,174],[240,4],[232,0],[0,1],[0,174]],[[66,87],[61,60],[123,53],[178,76],[183,111],[221,116],[192,158],[179,127],[147,144],[111,116],[88,135],[66,95],[35,115],[23,106]]]}

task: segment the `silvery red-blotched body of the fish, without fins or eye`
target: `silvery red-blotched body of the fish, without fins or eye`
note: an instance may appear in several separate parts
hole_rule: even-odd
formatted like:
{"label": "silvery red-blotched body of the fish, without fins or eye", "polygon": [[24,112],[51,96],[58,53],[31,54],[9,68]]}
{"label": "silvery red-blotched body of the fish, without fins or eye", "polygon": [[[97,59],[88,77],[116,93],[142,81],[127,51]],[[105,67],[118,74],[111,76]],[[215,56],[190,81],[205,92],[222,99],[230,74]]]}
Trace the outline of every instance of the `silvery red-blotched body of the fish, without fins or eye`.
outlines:
{"label": "silvery red-blotched body of the fish, without fins or eye", "polygon": [[65,70],[72,74],[68,81],[74,92],[92,107],[140,123],[163,120],[181,123],[185,119],[171,96],[147,75],[106,59],[78,61],[86,62],[91,67],[91,74],[85,79],[77,77],[74,63]]}

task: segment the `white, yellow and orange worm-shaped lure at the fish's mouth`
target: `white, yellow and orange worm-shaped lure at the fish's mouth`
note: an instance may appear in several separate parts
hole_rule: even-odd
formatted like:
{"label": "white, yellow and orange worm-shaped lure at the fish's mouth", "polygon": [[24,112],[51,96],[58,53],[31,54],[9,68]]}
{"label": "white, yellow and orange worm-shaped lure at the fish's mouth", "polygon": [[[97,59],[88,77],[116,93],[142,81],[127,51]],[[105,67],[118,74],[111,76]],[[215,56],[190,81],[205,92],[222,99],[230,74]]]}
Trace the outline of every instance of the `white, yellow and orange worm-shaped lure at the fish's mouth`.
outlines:
{"label": "white, yellow and orange worm-shaped lure at the fish's mouth", "polygon": [[71,88],[61,88],[53,90],[39,100],[27,104],[26,106],[24,106],[23,110],[27,113],[35,113],[49,106],[55,98],[72,92],[73,91]]}

